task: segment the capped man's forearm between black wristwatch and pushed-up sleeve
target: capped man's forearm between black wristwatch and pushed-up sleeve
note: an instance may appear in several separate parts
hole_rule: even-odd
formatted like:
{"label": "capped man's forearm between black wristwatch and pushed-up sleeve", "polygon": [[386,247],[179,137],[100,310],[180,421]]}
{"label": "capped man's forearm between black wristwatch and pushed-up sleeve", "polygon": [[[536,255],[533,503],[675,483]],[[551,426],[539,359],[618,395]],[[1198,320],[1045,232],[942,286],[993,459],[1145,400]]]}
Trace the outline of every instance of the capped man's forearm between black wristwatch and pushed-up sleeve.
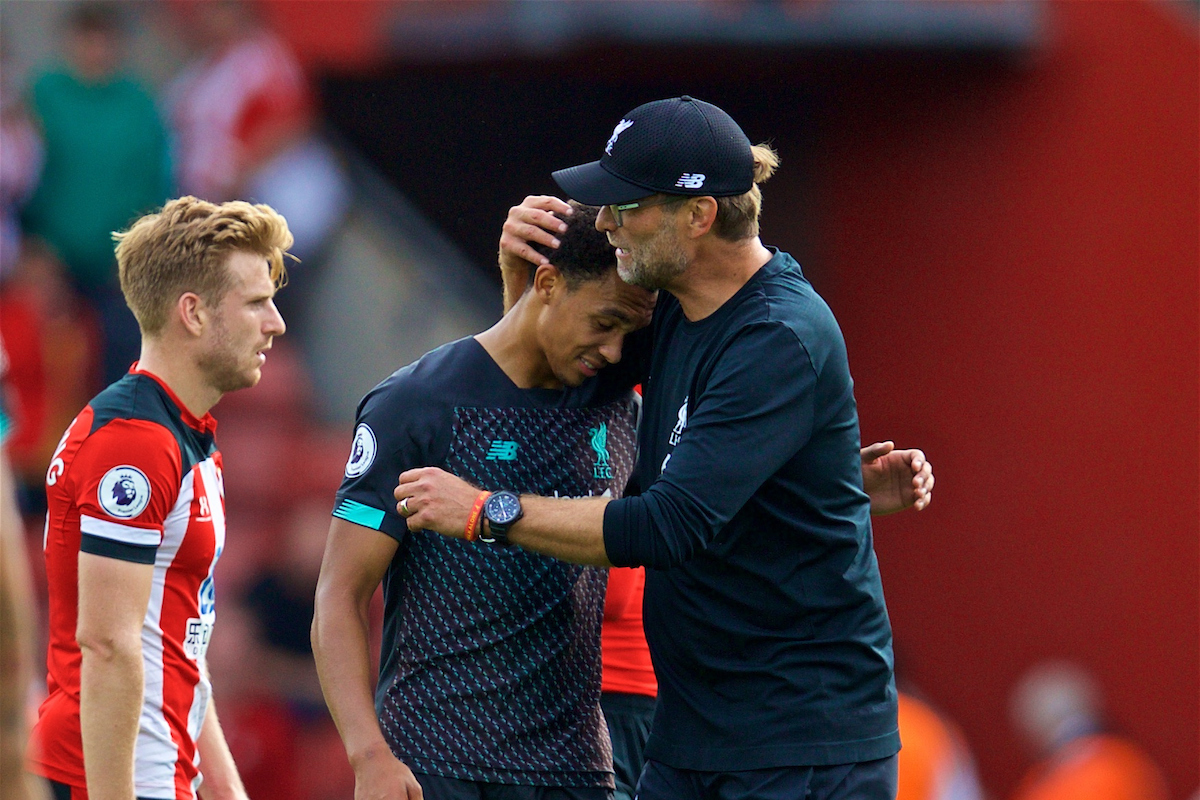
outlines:
{"label": "capped man's forearm between black wristwatch and pushed-up sleeve", "polygon": [[612,566],[604,547],[608,498],[558,499],[522,495],[522,517],[509,541],[571,564]]}

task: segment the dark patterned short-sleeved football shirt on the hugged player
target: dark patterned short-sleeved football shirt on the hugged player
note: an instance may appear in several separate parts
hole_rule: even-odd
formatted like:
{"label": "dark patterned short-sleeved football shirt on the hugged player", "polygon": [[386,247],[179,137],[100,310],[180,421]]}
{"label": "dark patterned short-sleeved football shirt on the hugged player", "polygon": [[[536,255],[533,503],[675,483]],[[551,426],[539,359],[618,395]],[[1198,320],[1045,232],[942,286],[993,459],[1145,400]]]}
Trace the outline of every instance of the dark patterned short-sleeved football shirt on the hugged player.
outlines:
{"label": "dark patterned short-sleeved football shirt on the hugged player", "polygon": [[[600,379],[565,392],[520,390],[473,339],[446,347],[364,401],[359,425],[370,426],[378,455],[364,469],[368,457],[352,452],[356,475],[335,510],[358,524],[378,510],[370,527],[400,541],[384,579],[376,697],[384,735],[418,772],[612,787],[600,711],[606,571],[400,533],[388,501],[401,471],[427,464],[492,491],[619,497],[636,457],[636,398]],[[416,385],[420,399],[409,393]]]}

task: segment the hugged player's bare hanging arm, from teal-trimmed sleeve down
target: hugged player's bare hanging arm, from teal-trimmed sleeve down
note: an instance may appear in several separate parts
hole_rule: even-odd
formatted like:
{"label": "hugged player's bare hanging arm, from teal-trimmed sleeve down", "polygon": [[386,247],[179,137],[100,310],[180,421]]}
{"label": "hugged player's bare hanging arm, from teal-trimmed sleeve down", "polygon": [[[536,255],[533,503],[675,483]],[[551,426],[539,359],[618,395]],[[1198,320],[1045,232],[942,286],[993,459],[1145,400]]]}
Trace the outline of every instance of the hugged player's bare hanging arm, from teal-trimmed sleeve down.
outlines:
{"label": "hugged player's bare hanging arm, from teal-trimmed sleeve down", "polygon": [[312,651],[325,703],[354,768],[355,800],[418,800],[421,787],[392,756],[371,693],[371,597],[398,543],[377,530],[334,518],[317,581]]}

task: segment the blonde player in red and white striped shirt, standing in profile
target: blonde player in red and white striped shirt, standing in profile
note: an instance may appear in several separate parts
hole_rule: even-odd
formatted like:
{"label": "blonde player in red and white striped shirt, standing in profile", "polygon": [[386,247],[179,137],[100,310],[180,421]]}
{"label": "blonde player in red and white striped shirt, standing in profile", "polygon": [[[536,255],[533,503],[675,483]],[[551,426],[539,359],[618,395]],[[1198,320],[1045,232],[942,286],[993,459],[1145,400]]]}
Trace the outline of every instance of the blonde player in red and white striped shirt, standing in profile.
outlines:
{"label": "blonde player in red and white striped shirt, standing in profile", "polygon": [[118,236],[142,357],[79,413],[46,476],[49,696],[35,771],[56,800],[245,800],[210,700],[224,545],[209,414],[258,383],[284,331],[292,246],[265,205],[185,197]]}

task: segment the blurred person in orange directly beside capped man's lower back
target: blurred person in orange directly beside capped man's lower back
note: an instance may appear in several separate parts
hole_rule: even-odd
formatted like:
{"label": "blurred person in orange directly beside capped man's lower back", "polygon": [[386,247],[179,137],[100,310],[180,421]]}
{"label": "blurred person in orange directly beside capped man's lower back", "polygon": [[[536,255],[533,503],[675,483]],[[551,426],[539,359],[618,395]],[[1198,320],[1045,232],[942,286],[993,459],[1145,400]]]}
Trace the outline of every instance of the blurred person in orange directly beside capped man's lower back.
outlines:
{"label": "blurred person in orange directly beside capped man's lower back", "polygon": [[905,691],[900,741],[896,800],[982,800],[974,762],[958,726]]}

